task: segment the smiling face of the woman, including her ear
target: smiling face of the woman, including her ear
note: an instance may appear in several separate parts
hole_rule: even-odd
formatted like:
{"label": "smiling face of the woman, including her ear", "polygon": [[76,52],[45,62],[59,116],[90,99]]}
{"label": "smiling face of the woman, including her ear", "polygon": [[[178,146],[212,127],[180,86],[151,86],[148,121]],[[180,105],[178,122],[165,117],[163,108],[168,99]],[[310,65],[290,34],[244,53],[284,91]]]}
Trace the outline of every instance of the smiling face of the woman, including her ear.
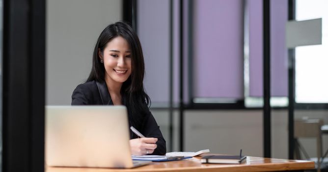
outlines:
{"label": "smiling face of the woman, including her ear", "polygon": [[113,38],[107,43],[103,54],[100,51],[98,54],[104,61],[106,81],[122,84],[129,78],[132,72],[131,49],[123,37]]}

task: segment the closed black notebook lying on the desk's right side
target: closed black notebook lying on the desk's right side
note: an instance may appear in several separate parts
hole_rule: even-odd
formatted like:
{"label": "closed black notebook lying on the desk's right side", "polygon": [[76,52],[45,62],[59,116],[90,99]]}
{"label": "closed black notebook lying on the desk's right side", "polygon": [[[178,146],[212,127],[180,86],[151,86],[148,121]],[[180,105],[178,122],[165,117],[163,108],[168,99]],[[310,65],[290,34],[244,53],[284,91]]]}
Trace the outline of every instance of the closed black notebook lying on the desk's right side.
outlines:
{"label": "closed black notebook lying on the desk's right side", "polygon": [[215,163],[215,164],[240,164],[246,160],[246,156],[238,155],[209,155],[203,156],[200,159],[201,163]]}

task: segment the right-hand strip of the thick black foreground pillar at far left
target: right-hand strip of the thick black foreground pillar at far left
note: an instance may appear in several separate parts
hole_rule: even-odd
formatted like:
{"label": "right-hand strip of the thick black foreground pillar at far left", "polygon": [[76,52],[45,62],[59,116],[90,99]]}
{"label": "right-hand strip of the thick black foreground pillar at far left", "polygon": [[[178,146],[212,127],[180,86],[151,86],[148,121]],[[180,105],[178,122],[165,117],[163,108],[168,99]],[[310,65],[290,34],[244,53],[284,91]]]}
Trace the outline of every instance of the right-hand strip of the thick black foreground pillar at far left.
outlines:
{"label": "right-hand strip of the thick black foreground pillar at far left", "polygon": [[30,0],[30,172],[44,171],[46,1]]}

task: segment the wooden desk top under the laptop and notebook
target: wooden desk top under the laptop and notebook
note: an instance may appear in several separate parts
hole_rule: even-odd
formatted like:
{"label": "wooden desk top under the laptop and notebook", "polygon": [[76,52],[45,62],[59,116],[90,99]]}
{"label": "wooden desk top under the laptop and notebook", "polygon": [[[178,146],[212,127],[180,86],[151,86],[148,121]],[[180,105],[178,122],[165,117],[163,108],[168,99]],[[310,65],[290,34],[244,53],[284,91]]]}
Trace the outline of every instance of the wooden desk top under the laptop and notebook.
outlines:
{"label": "wooden desk top under the laptop and notebook", "polygon": [[47,167],[46,172],[274,172],[314,169],[314,162],[248,157],[244,163],[201,164],[199,157],[171,162],[153,162],[135,169],[93,169]]}

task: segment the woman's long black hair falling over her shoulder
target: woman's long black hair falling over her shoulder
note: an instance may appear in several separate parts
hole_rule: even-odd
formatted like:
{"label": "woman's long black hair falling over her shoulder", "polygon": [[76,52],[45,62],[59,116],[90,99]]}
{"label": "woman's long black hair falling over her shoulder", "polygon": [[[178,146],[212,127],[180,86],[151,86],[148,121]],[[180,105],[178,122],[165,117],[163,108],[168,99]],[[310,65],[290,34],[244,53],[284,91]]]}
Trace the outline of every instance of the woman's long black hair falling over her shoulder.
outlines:
{"label": "woman's long black hair falling over her shoulder", "polygon": [[[105,82],[105,66],[100,62],[98,50],[104,53],[107,43],[118,36],[123,37],[130,45],[132,73],[130,77],[122,84],[121,96],[122,103],[128,109],[129,116],[134,114],[133,119],[141,124],[142,116],[149,112],[150,98],[143,88],[143,77],[145,73],[143,54],[141,44],[137,33],[125,22],[116,22],[107,26],[99,35],[92,57],[92,69],[86,82],[97,81]],[[140,126],[136,126],[140,127]]]}

